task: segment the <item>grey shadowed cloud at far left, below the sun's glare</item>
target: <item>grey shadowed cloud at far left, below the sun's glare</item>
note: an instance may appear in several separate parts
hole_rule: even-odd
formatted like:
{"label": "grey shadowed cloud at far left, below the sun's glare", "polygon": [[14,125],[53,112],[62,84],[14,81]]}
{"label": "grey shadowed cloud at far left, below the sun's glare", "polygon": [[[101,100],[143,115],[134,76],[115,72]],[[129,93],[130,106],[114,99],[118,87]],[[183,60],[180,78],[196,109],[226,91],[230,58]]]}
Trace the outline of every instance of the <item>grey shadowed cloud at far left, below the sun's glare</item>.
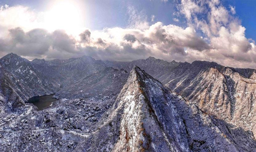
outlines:
{"label": "grey shadowed cloud at far left, below the sun's glare", "polygon": [[[68,36],[64,31],[56,30],[52,33],[44,29],[34,29],[24,32],[21,28],[9,30],[9,39],[0,39],[1,52],[14,52],[28,57],[50,57],[49,50],[58,53],[76,53],[76,40]],[[51,57],[50,57],[51,58]]]}

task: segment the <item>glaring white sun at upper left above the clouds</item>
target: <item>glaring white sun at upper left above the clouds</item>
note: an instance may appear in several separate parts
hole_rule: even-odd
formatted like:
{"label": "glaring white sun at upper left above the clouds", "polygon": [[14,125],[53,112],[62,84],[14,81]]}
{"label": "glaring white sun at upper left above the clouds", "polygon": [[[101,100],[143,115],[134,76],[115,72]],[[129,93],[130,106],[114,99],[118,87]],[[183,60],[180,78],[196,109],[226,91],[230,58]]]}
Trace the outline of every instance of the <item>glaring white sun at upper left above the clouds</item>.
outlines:
{"label": "glaring white sun at upper left above the clouds", "polygon": [[80,32],[84,14],[79,4],[72,0],[57,0],[49,7],[45,17],[45,26],[49,31],[61,29],[69,34]]}

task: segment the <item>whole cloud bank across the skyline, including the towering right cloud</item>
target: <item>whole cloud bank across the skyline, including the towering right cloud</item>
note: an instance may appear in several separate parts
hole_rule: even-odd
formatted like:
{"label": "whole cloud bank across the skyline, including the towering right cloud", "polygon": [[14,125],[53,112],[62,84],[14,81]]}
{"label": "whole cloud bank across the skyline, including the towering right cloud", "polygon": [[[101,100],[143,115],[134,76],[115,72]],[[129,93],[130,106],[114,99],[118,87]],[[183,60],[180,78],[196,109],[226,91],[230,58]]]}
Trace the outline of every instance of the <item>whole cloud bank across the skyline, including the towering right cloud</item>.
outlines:
{"label": "whole cloud bank across the skyline, including the towering right cloud", "polygon": [[5,18],[0,23],[0,32],[5,33],[0,38],[2,56],[14,52],[32,60],[88,55],[117,61],[154,56],[168,61],[207,60],[225,66],[256,68],[255,42],[245,37],[246,28],[235,16],[236,8],[226,8],[219,0],[179,1],[174,21],[184,18],[185,28],[154,22],[154,15],[150,22],[143,10],[138,12],[129,6],[126,28],[86,29],[78,35],[35,28],[39,25],[38,14],[23,6],[2,6],[0,20],[6,14],[17,13],[31,27],[21,21],[18,26]]}

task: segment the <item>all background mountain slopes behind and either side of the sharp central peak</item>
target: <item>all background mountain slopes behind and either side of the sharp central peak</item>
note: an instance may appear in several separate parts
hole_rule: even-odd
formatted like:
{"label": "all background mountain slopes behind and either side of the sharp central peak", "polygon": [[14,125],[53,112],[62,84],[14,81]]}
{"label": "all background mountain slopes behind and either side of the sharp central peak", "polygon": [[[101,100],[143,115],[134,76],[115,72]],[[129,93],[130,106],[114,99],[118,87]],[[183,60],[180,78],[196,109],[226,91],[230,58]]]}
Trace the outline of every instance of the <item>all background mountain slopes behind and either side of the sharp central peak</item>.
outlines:
{"label": "all background mountain slopes behind and either side of the sharp central peak", "polygon": [[22,107],[20,98],[26,101],[55,92],[60,98],[70,99],[114,96],[126,82],[128,74],[124,70],[129,72],[138,65],[204,112],[250,130],[256,137],[254,69],[229,68],[205,61],[166,62],[153,57],[132,62],[102,62],[88,56],[30,62],[12,53],[1,58],[0,64],[1,102],[4,107],[8,103],[10,110],[18,108],[14,103]]}

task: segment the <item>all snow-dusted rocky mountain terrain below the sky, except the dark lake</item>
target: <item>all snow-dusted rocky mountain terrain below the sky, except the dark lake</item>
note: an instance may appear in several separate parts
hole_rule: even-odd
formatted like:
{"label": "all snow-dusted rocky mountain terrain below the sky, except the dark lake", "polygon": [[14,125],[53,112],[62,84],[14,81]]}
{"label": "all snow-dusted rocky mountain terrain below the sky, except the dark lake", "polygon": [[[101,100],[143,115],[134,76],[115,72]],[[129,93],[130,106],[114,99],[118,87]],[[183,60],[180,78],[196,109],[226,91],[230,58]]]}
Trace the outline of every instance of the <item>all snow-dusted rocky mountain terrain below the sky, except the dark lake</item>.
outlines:
{"label": "all snow-dusted rocky mountain terrain below the sky, except the dark lake", "polygon": [[[255,75],[205,61],[11,53],[0,59],[0,151],[253,152]],[[44,110],[26,103],[53,93]]]}

